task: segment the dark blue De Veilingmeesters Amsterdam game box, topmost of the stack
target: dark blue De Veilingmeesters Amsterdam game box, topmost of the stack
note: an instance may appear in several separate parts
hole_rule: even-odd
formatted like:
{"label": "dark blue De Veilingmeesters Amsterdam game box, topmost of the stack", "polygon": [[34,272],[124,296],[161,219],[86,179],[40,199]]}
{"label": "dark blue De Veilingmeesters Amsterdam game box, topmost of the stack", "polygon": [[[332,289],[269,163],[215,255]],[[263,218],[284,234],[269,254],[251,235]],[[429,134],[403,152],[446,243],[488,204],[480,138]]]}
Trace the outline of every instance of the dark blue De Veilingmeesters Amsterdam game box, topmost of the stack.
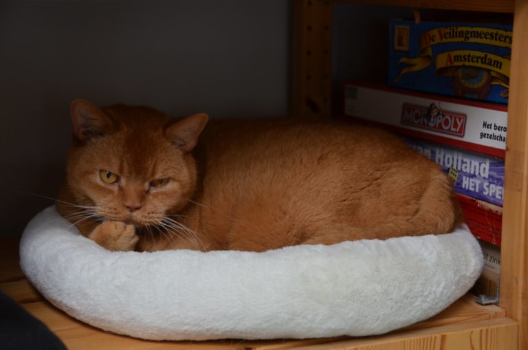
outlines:
{"label": "dark blue De Veilingmeesters Amsterdam game box, topmost of the stack", "polygon": [[511,25],[391,20],[388,83],[507,103]]}

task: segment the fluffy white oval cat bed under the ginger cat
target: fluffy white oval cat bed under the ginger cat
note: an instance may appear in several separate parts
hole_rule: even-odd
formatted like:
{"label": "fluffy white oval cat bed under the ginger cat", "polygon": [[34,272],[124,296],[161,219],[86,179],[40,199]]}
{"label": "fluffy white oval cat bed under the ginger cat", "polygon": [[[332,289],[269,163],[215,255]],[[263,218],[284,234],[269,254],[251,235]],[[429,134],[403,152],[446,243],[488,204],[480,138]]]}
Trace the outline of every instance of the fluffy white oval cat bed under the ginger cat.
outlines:
{"label": "fluffy white oval cat bed under the ginger cat", "polygon": [[21,267],[56,307],[152,340],[368,336],[437,314],[481,273],[481,248],[450,234],[299,245],[263,253],[110,252],[54,207],[23,233]]}

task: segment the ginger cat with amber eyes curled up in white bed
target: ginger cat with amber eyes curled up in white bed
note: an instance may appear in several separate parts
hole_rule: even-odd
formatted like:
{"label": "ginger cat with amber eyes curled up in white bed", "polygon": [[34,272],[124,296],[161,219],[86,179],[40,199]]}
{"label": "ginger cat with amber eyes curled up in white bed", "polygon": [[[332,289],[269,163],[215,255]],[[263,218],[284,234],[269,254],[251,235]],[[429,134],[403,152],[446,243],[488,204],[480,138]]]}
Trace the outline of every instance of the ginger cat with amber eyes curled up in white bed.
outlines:
{"label": "ginger cat with amber eyes curled up in white bed", "polygon": [[109,250],[260,252],[442,234],[459,219],[439,166],[377,129],[174,120],[86,100],[71,109],[74,142],[57,208]]}

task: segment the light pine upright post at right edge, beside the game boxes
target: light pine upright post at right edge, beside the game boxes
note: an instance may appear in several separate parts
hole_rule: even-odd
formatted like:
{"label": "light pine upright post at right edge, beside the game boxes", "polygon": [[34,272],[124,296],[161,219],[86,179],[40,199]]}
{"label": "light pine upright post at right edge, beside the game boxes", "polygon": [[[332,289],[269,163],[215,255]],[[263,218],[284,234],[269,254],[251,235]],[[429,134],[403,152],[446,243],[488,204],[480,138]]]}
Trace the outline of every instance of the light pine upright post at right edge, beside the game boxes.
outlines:
{"label": "light pine upright post at right edge, beside the game boxes", "polygon": [[506,140],[500,307],[519,322],[528,349],[528,0],[516,0]]}

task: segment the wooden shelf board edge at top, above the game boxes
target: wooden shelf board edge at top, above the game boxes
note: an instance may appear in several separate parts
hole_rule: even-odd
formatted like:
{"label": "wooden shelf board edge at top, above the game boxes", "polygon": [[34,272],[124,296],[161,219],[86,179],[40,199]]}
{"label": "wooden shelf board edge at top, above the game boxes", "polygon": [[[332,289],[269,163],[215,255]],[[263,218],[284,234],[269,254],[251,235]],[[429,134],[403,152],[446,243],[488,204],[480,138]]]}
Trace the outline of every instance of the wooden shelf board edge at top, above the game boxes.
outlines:
{"label": "wooden shelf board edge at top, above the game boxes", "polygon": [[368,3],[380,6],[399,6],[406,8],[430,8],[436,10],[462,10],[481,12],[514,12],[514,0],[333,0],[340,3]]}

